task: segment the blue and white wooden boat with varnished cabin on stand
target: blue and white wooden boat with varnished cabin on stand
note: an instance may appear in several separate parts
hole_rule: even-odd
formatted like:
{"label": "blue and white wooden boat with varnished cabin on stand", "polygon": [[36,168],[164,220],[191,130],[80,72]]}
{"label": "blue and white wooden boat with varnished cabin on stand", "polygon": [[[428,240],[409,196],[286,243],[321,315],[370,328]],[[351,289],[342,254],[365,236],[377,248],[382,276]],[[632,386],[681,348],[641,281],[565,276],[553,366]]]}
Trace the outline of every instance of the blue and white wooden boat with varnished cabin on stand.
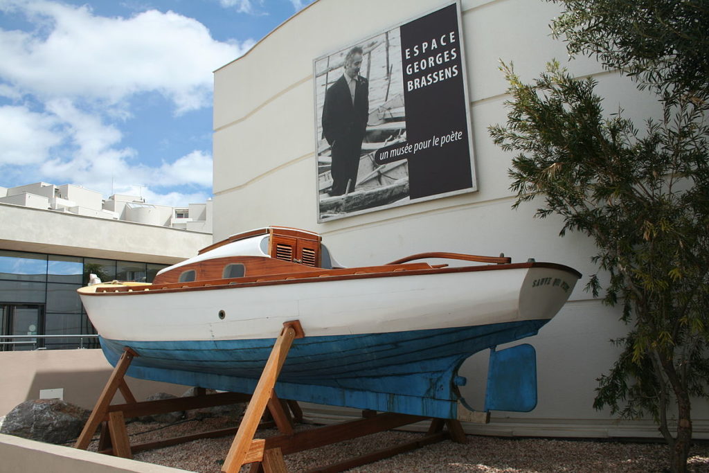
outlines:
{"label": "blue and white wooden boat with varnished cabin on stand", "polygon": [[457,371],[491,349],[485,410],[535,406],[536,384],[520,394],[520,408],[501,396],[529,389],[495,389],[491,378],[510,370],[528,378],[535,365],[524,365],[530,350],[522,348],[530,345],[495,347],[535,335],[579,272],[449,252],[348,268],[321,240],[307,230],[259,228],[162,269],[152,284],[78,291],[108,362],[115,366],[125,347],[139,355],[131,377],[250,394],[284,323],[299,321],[305,336],[279,374],[280,399],[460,419],[469,408]]}

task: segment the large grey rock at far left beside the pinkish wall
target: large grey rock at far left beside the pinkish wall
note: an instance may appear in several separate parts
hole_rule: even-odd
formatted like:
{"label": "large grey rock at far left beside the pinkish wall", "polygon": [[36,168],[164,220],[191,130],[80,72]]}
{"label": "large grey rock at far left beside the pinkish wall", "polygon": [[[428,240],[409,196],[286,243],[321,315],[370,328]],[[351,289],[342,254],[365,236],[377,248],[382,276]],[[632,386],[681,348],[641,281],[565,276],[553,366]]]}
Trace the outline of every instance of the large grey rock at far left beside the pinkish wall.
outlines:
{"label": "large grey rock at far left beside the pinkish wall", "polygon": [[90,413],[61,399],[25,401],[8,413],[0,433],[45,443],[67,443],[79,436]]}

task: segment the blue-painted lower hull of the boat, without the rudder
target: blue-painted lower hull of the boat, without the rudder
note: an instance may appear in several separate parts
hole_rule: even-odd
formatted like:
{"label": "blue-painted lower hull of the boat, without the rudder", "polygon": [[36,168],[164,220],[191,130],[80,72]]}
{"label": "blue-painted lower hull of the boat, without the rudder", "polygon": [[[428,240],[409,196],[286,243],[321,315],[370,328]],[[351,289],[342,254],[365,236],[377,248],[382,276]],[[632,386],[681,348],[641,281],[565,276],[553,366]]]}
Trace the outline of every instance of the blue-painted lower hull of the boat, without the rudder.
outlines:
{"label": "blue-painted lower hull of the boat, without the rudder", "polygon": [[[454,379],[476,352],[537,333],[547,323],[520,321],[464,328],[306,337],[294,340],[276,384],[281,399],[456,418]],[[128,375],[250,394],[274,338],[128,341],[101,338],[111,365],[123,347],[138,352]]]}

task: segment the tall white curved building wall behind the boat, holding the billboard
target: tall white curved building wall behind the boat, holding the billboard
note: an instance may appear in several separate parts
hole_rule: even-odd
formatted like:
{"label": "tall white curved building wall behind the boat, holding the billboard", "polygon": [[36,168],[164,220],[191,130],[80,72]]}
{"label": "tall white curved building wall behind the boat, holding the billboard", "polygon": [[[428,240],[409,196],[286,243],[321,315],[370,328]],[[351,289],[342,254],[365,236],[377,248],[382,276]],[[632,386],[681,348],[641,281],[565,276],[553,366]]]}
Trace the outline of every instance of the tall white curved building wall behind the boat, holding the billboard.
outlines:
{"label": "tall white curved building wall behind the boat, holding the billboard", "polygon": [[[565,45],[549,37],[559,6],[537,0],[464,0],[472,135],[479,191],[317,223],[313,59],[442,6],[437,0],[319,0],[274,30],[239,60],[215,73],[214,240],[266,225],[318,231],[343,265],[375,265],[424,251],[535,257],[579,269],[584,278],[568,304],[527,340],[537,348],[539,397],[531,413],[493,413],[470,432],[501,435],[657,436],[649,421],[618,423],[592,407],[596,378],[617,355],[608,340],[623,335],[617,311],[584,292],[593,245],[581,235],[560,238],[558,218],[532,218],[535,206],[513,211],[507,169],[511,156],[487,128],[506,122],[507,84],[499,60],[514,62],[526,82],[557,58],[577,76],[591,76],[605,111],[644,117],[657,105],[594,60],[566,64]],[[376,12],[376,14],[372,14]],[[485,355],[466,362],[464,396],[481,407]],[[482,386],[482,387],[481,387]],[[477,403],[477,404],[476,404]],[[709,408],[695,404],[695,433],[709,437]]]}

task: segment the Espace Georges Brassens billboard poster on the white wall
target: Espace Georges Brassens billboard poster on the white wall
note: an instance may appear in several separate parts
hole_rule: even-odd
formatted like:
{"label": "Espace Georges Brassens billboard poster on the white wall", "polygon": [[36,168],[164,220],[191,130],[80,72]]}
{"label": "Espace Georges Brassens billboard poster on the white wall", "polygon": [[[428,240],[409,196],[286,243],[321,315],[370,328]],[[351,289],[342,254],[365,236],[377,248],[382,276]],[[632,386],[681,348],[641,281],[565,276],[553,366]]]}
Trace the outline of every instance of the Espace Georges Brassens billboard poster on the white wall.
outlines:
{"label": "Espace Georges Brassens billboard poster on the white wall", "polygon": [[318,222],[475,191],[454,2],[313,62]]}

